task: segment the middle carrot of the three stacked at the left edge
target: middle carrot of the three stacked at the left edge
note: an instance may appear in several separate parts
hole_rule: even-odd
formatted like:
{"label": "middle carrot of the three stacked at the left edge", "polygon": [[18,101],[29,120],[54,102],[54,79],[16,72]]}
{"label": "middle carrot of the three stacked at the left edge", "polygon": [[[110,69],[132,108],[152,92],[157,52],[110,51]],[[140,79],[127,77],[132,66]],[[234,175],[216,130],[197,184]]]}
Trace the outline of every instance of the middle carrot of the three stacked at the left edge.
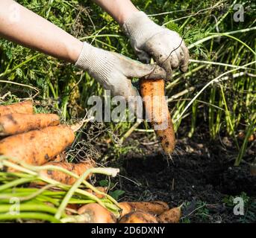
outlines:
{"label": "middle carrot of the three stacked at the left edge", "polygon": [[46,126],[57,126],[60,118],[55,114],[14,113],[0,117],[0,136],[16,135]]}

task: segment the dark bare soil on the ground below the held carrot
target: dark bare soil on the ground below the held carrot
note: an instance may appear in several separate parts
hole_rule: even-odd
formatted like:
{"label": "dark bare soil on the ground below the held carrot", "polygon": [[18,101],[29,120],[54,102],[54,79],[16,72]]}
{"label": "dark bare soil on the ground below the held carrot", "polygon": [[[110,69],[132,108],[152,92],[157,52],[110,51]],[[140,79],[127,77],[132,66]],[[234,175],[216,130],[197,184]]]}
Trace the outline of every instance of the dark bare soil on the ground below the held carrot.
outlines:
{"label": "dark bare soil on the ground below the held carrot", "polygon": [[[205,133],[179,138],[172,158],[144,139],[134,133],[127,144],[140,140],[140,148],[119,159],[116,182],[125,191],[122,201],[161,200],[170,207],[184,203],[181,222],[256,222],[256,176],[250,176],[246,162],[234,167],[237,152],[228,138],[212,142]],[[245,161],[255,158],[252,146]],[[243,198],[244,215],[234,214],[237,196]]]}

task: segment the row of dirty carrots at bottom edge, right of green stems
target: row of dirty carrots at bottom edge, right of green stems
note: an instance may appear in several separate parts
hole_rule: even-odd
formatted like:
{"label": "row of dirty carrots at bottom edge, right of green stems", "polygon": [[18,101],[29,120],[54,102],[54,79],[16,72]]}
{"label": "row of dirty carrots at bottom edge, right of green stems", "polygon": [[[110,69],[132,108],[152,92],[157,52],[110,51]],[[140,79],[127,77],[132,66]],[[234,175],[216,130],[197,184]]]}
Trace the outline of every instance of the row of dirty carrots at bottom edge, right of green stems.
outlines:
{"label": "row of dirty carrots at bottom edge, right of green stems", "polygon": [[[74,208],[74,207],[73,207]],[[165,202],[120,202],[117,219],[98,203],[76,207],[79,223],[178,223],[181,207],[169,209]]]}

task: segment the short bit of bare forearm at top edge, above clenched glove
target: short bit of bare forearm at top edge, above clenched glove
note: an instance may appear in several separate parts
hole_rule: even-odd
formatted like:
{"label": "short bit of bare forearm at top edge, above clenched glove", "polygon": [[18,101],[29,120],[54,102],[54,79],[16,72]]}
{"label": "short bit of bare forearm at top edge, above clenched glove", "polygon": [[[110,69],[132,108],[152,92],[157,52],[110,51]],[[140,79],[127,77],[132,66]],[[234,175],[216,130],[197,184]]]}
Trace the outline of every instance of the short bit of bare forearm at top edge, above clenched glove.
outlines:
{"label": "short bit of bare forearm at top edge, above clenched glove", "polygon": [[104,10],[107,11],[119,25],[122,25],[132,13],[137,12],[137,8],[130,0],[94,0]]}

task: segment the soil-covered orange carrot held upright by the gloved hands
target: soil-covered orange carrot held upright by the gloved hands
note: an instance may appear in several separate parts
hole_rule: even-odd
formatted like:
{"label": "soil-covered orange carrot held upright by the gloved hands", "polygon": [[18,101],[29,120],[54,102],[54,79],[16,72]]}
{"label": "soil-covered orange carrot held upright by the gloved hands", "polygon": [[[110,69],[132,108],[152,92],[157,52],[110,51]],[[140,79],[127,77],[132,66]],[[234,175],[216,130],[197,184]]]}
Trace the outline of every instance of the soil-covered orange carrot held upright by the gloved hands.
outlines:
{"label": "soil-covered orange carrot held upright by the gloved hands", "polygon": [[175,132],[164,97],[164,80],[141,80],[140,94],[143,97],[146,118],[152,123],[163,151],[166,154],[172,153],[175,149]]}

